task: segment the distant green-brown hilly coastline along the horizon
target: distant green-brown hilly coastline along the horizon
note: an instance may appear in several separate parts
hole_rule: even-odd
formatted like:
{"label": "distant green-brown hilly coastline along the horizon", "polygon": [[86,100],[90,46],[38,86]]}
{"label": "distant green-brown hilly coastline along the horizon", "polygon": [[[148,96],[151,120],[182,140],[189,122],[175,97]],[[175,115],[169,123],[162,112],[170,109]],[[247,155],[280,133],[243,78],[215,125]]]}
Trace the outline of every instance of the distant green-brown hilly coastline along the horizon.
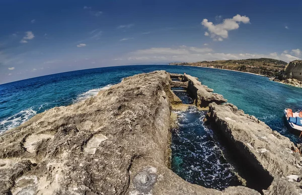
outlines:
{"label": "distant green-brown hilly coastline along the horizon", "polygon": [[237,70],[242,72],[261,74],[264,76],[279,75],[281,72],[283,72],[286,64],[287,62],[270,58],[170,63],[170,65],[203,66],[219,69]]}

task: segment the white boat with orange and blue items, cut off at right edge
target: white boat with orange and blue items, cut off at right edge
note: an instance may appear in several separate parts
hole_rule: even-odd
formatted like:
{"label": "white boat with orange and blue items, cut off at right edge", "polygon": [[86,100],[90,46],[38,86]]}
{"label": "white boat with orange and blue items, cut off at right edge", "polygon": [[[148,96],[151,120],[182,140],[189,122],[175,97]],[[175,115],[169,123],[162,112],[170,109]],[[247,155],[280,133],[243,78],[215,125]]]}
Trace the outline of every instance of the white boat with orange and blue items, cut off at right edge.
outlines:
{"label": "white boat with orange and blue items, cut off at right edge", "polygon": [[302,136],[302,112],[293,113],[291,109],[284,109],[284,115],[290,129],[296,133],[299,133],[299,137],[301,137]]}

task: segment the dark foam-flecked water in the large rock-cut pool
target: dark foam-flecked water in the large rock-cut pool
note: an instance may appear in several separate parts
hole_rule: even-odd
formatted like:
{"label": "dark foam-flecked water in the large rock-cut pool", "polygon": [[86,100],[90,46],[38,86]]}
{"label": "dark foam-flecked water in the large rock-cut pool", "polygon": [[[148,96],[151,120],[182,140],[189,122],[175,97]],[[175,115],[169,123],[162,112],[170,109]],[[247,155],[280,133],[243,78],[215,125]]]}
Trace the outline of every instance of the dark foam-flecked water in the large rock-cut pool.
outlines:
{"label": "dark foam-flecked water in the large rock-cut pool", "polygon": [[202,122],[206,112],[191,106],[176,113],[179,128],[172,132],[171,169],[186,181],[208,188],[222,190],[241,185],[213,132]]}

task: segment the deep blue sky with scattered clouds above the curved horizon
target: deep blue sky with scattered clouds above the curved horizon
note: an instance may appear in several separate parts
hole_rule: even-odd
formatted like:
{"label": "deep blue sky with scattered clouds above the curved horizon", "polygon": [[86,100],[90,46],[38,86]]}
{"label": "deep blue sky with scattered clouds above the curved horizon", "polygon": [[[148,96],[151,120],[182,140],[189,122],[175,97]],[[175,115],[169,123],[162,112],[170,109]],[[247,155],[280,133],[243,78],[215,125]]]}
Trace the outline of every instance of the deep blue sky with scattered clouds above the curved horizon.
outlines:
{"label": "deep blue sky with scattered clouds above the curved horizon", "polygon": [[302,1],[1,0],[0,84],[79,69],[302,58]]}

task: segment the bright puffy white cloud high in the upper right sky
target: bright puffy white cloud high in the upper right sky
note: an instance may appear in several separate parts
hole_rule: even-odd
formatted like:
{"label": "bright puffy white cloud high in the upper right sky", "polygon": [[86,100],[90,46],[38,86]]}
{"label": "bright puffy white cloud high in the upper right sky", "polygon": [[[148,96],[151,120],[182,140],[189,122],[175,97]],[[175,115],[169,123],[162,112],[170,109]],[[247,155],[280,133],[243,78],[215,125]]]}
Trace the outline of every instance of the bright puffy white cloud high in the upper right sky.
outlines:
{"label": "bright puffy white cloud high in the upper right sky", "polygon": [[207,28],[208,32],[205,32],[205,36],[209,36],[216,41],[223,41],[223,39],[229,37],[229,31],[239,28],[239,24],[250,23],[249,17],[240,16],[237,14],[231,19],[224,19],[222,23],[214,25],[212,22],[208,22],[207,19],[203,19],[201,25]]}

